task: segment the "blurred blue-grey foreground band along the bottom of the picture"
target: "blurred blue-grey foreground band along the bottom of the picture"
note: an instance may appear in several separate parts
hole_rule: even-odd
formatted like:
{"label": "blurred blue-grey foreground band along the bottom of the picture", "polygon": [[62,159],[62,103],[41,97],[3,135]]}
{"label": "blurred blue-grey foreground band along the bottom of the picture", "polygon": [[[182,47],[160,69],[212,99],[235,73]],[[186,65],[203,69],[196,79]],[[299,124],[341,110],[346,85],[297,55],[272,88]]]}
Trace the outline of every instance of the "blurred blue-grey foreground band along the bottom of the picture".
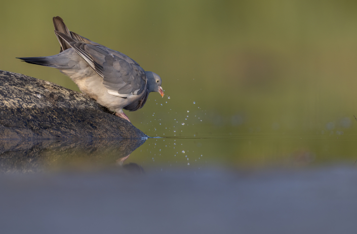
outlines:
{"label": "blurred blue-grey foreground band along the bottom of the picture", "polygon": [[354,233],[357,171],[0,177],[2,233]]}

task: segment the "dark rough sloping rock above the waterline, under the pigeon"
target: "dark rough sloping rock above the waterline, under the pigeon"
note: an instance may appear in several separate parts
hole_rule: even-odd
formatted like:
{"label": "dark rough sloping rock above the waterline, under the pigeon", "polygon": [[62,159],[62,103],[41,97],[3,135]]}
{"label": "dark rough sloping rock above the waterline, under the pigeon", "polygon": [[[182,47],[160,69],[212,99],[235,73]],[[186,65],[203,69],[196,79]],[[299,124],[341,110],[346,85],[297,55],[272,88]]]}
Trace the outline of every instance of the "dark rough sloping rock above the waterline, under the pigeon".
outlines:
{"label": "dark rough sloping rock above the waterline, under the pigeon", "polygon": [[0,70],[0,138],[142,138],[95,100],[49,81]]}

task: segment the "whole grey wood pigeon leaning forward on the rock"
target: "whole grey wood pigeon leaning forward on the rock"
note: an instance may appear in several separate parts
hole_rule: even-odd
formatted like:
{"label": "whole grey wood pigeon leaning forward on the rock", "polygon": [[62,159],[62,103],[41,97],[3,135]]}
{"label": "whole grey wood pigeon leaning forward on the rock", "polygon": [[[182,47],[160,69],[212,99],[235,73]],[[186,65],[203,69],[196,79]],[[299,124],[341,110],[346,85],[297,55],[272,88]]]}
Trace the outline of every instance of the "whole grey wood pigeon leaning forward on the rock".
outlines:
{"label": "whole grey wood pigeon leaning forward on the rock", "polygon": [[19,59],[59,69],[83,93],[127,120],[129,118],[122,109],[136,111],[142,108],[152,91],[164,96],[162,81],[157,74],[145,72],[137,62],[123,53],[69,31],[58,16],[53,17],[53,23],[61,45],[60,53]]}

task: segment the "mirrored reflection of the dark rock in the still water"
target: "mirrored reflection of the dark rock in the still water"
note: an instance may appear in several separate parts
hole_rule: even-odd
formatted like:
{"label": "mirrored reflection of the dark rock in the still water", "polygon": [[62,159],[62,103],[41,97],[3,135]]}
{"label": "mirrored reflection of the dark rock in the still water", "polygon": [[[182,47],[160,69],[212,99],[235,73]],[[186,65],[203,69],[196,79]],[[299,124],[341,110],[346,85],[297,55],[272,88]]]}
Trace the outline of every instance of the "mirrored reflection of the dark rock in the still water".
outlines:
{"label": "mirrored reflection of the dark rock in the still water", "polygon": [[[48,170],[98,170],[116,166],[142,173],[135,163],[124,164],[143,139],[93,139],[91,141],[0,140],[0,172],[35,173]],[[135,165],[134,165],[135,164]]]}

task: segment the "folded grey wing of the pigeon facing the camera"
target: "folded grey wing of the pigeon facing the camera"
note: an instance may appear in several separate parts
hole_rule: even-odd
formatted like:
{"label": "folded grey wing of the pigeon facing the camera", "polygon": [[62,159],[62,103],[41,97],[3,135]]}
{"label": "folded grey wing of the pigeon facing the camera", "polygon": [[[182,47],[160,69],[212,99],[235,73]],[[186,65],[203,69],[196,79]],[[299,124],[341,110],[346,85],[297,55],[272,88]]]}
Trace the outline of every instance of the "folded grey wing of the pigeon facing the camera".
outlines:
{"label": "folded grey wing of the pigeon facing the camera", "polygon": [[128,98],[146,91],[144,69],[128,56],[120,52],[114,54],[113,50],[72,32],[71,36],[55,32],[103,77],[103,84],[111,95]]}

